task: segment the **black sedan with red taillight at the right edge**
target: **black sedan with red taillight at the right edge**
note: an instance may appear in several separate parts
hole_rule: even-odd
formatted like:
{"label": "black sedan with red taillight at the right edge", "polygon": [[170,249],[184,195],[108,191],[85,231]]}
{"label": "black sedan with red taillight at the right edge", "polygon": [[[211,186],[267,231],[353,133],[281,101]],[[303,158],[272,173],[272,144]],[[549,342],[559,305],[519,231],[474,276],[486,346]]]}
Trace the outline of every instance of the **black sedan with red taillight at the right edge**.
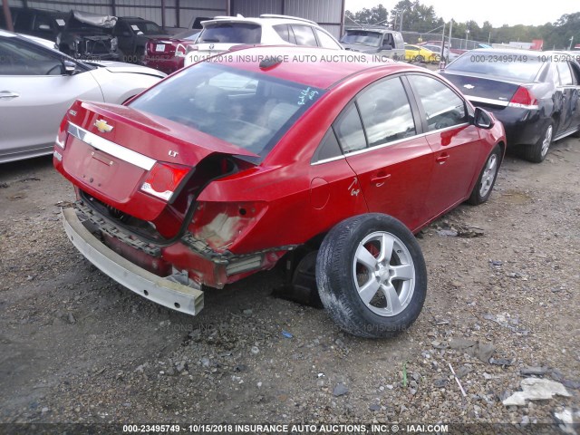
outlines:
{"label": "black sedan with red taillight at the right edge", "polygon": [[524,159],[546,159],[554,140],[580,132],[580,54],[479,49],[442,72],[470,102],[492,111],[507,145]]}

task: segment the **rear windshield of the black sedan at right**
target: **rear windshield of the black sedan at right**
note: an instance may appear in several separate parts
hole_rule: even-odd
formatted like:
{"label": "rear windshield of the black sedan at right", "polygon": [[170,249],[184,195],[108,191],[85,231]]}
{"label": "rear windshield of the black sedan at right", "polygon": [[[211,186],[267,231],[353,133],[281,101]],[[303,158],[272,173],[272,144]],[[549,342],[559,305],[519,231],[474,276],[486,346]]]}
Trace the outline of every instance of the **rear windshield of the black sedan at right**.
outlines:
{"label": "rear windshield of the black sedan at right", "polygon": [[517,82],[534,82],[542,68],[540,56],[527,52],[468,52],[449,63],[446,71],[494,75]]}

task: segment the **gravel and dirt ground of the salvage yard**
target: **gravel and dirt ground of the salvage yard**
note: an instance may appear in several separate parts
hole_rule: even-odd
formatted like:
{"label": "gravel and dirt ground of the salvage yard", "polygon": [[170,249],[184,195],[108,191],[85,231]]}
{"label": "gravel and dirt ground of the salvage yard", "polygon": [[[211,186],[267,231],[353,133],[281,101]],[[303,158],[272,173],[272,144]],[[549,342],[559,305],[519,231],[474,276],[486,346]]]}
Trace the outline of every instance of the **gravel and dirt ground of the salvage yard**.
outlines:
{"label": "gravel and dirt ground of the salvage yard", "polygon": [[[0,166],[0,422],[525,425],[580,406],[578,139],[508,156],[487,204],[418,235],[425,307],[379,341],[273,297],[277,270],[208,291],[197,317],[152,304],[68,242],[50,159]],[[504,406],[529,367],[571,397]]]}

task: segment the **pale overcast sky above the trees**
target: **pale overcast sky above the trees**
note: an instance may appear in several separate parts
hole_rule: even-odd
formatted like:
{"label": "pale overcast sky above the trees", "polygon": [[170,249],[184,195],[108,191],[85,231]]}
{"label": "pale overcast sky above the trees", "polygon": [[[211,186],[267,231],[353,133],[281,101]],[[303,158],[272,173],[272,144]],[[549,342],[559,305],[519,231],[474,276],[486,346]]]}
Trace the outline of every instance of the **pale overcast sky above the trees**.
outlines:
{"label": "pale overcast sky above the trees", "polygon": [[[399,0],[346,0],[346,10],[356,12],[363,7],[382,4],[389,13]],[[456,2],[451,0],[420,0],[422,5],[433,6],[435,14],[445,21],[451,18],[458,23],[473,20],[483,25],[488,21],[494,27],[503,24],[539,25],[554,23],[563,14],[580,12],[578,0],[485,0],[483,2]],[[404,29],[403,29],[404,30]]]}

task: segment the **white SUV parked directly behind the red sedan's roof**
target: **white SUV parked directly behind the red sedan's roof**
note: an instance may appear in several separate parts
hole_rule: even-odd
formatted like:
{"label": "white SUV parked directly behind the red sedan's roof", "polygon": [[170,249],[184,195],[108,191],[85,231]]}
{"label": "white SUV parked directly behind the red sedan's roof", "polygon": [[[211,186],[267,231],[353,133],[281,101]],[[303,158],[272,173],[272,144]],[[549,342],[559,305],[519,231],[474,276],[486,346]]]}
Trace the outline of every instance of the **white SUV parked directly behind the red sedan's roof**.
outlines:
{"label": "white SUV parked directly behind the red sedan's roof", "polygon": [[201,23],[195,45],[188,47],[185,66],[226,53],[235,45],[308,45],[335,50],[343,46],[314,21],[295,16],[262,14],[259,18],[217,16]]}

